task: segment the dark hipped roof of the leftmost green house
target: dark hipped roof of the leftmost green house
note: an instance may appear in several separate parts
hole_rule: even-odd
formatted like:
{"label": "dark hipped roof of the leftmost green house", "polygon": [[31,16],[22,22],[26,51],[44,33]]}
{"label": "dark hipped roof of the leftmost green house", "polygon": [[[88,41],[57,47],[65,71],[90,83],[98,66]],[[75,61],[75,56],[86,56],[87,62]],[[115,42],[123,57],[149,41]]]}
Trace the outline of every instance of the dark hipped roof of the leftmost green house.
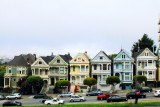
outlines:
{"label": "dark hipped roof of the leftmost green house", "polygon": [[19,56],[15,56],[14,59],[11,60],[7,65],[27,66],[31,65],[35,60],[36,58],[32,54],[21,54]]}

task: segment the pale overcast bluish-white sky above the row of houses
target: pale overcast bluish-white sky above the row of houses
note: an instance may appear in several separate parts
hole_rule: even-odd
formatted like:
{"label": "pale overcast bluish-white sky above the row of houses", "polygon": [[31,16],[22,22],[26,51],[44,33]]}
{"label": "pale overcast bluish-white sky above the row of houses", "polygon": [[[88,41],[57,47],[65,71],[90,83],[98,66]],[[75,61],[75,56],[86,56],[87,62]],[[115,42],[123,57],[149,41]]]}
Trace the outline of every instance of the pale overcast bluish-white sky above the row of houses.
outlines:
{"label": "pale overcast bluish-white sky above the row of houses", "polygon": [[0,0],[0,57],[130,52],[144,34],[158,46],[160,0]]}

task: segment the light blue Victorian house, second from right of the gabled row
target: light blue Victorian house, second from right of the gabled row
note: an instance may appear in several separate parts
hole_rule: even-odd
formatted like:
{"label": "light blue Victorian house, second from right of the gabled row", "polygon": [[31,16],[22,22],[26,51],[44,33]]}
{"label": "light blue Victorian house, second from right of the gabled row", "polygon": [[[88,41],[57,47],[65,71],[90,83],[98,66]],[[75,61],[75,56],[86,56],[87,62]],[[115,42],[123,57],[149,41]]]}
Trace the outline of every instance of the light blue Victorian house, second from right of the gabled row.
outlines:
{"label": "light blue Victorian house, second from right of the gabled row", "polygon": [[118,53],[113,60],[113,74],[118,76],[120,84],[117,88],[120,89],[131,89],[133,83],[133,63],[134,59],[124,49]]}

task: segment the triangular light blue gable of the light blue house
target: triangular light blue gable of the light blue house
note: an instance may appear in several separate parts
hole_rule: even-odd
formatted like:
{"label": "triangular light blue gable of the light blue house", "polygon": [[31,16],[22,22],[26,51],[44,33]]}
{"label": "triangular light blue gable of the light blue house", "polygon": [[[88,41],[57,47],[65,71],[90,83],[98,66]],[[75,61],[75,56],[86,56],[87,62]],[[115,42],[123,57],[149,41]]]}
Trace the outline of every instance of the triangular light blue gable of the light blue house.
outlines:
{"label": "triangular light blue gable of the light blue house", "polygon": [[121,50],[114,60],[134,60],[125,50]]}

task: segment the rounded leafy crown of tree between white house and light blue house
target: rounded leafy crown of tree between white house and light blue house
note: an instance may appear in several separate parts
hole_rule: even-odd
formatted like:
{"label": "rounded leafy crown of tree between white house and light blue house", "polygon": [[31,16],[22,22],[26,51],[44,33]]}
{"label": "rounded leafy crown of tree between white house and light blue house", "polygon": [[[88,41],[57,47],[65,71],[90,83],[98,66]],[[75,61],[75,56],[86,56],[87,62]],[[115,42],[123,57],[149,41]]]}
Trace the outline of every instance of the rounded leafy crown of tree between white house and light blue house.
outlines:
{"label": "rounded leafy crown of tree between white house and light blue house", "polygon": [[120,79],[118,76],[109,76],[107,79],[106,79],[106,84],[110,84],[110,85],[116,85],[120,83]]}

